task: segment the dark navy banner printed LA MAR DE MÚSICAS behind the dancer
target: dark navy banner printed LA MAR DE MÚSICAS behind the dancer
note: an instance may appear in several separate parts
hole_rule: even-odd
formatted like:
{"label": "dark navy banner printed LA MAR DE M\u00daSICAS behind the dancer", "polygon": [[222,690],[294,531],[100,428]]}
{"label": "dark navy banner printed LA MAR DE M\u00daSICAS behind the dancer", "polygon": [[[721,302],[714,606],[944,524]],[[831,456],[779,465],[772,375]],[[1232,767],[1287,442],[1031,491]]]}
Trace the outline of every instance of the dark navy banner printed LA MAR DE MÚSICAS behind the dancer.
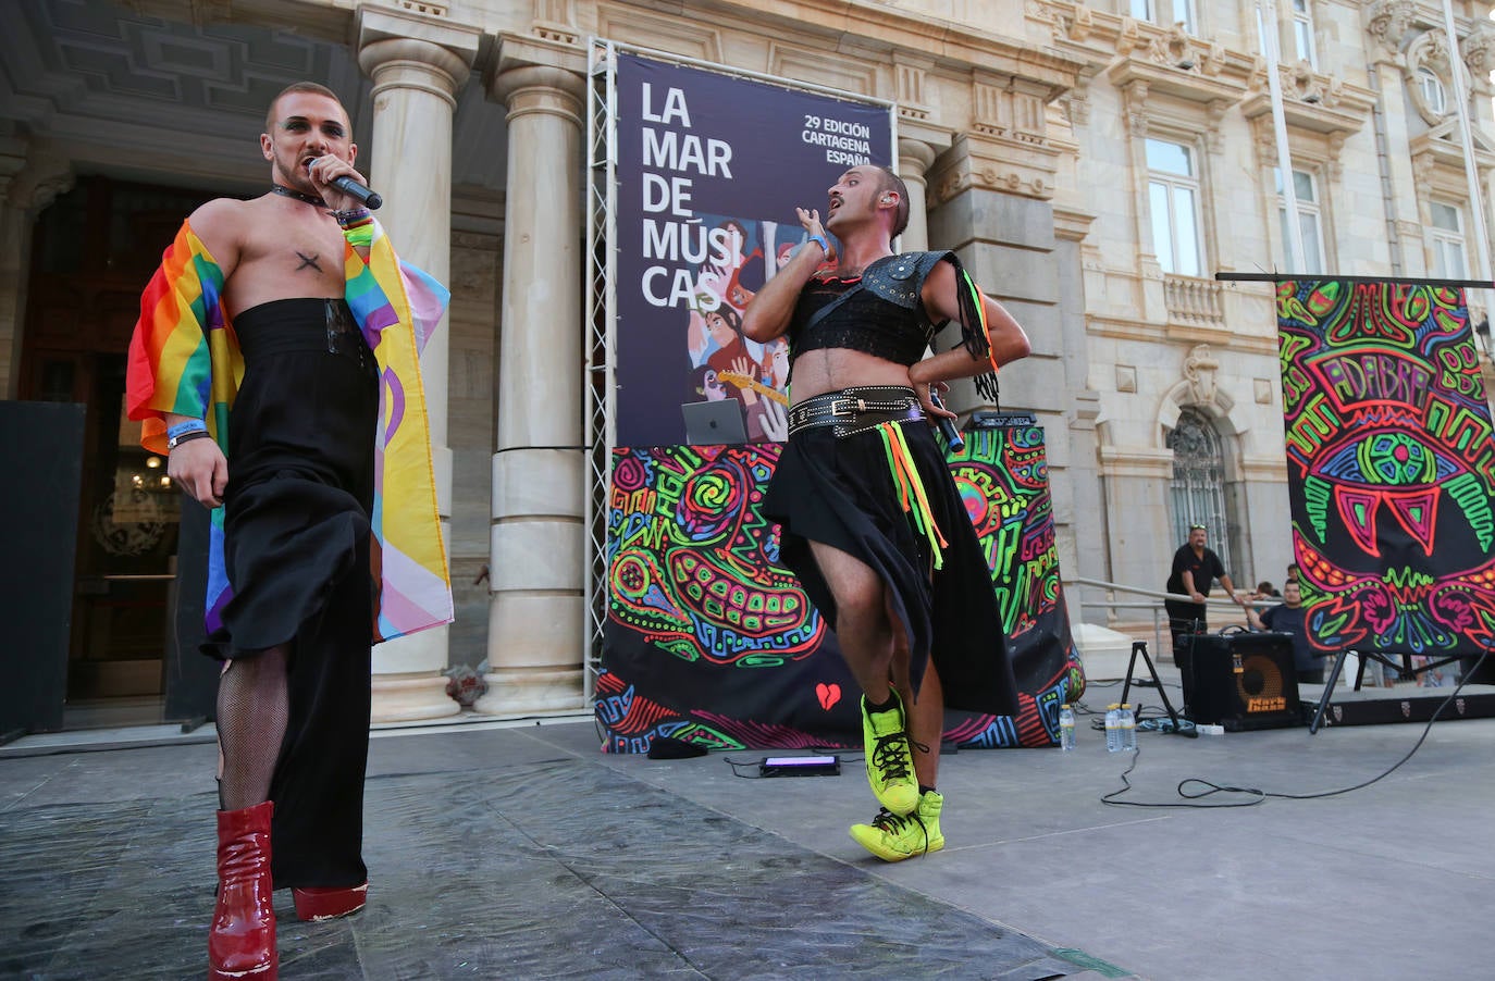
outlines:
{"label": "dark navy banner printed LA MAR DE M\u00daSICAS behind the dancer", "polygon": [[849,167],[893,162],[888,106],[617,57],[617,443],[688,443],[685,404],[731,401],[788,438],[788,344],[742,313]]}

